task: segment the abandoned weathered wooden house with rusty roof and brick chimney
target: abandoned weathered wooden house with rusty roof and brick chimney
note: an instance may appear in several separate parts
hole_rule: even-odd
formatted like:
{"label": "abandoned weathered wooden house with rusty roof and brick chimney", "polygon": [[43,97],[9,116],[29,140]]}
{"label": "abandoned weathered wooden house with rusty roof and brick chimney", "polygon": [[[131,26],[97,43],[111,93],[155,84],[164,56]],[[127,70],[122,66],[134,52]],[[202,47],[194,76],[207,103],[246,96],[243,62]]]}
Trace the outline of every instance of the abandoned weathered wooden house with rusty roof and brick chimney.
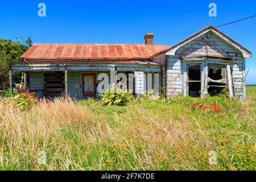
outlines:
{"label": "abandoned weathered wooden house with rusty roof and brick chimney", "polygon": [[143,73],[159,73],[150,74],[152,88],[166,97],[204,97],[227,87],[230,97],[245,101],[245,58],[252,53],[241,44],[213,26],[174,46],[156,45],[153,38],[146,34],[145,44],[34,44],[21,62],[10,63],[10,81],[22,71],[26,87],[39,97],[82,99],[99,98],[100,73],[133,73],[134,94],[150,89]]}

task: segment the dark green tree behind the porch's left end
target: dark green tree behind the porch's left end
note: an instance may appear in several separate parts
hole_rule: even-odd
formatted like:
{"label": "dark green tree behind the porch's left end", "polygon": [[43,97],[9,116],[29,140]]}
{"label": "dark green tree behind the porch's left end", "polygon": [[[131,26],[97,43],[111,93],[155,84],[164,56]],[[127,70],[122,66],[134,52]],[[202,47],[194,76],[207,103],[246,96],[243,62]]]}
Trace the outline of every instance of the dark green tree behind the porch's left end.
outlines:
{"label": "dark green tree behind the porch's left end", "polygon": [[[0,90],[9,85],[9,65],[7,62],[21,61],[20,56],[32,45],[31,37],[24,42],[0,39]],[[14,82],[20,82],[21,73],[15,72]]]}

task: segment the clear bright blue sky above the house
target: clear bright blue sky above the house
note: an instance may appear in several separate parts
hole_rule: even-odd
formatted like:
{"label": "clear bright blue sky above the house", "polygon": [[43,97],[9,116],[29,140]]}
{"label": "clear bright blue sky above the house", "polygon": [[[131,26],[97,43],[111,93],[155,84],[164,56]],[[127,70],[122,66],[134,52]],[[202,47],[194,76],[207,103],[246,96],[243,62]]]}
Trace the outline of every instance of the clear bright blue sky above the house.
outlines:
{"label": "clear bright blue sky above the house", "polygon": [[[46,17],[38,4],[46,4]],[[209,3],[217,16],[208,15]],[[0,38],[32,36],[33,43],[143,43],[154,32],[155,44],[173,45],[213,24],[256,14],[256,1],[1,1]],[[256,17],[220,27],[254,53],[246,60],[247,84],[256,84]]]}

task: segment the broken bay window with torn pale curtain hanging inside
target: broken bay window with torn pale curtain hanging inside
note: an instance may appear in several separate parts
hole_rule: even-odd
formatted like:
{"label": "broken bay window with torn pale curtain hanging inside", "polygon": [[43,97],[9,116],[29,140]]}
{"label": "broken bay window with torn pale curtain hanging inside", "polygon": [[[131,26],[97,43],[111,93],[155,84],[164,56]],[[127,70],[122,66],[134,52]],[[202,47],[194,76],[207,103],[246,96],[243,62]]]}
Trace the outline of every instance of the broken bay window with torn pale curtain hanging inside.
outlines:
{"label": "broken bay window with torn pale curtain hanging inside", "polygon": [[226,65],[208,65],[208,93],[210,96],[219,94],[227,84]]}

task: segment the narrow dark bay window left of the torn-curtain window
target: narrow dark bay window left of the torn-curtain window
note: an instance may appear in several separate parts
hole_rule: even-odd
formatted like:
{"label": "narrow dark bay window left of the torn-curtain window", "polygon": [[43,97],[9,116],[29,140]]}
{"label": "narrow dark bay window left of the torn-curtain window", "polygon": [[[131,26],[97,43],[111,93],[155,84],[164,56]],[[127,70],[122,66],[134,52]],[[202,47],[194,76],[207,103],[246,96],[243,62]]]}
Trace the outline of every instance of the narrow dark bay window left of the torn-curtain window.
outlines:
{"label": "narrow dark bay window left of the torn-curtain window", "polygon": [[201,64],[188,65],[188,95],[200,97],[201,92]]}

